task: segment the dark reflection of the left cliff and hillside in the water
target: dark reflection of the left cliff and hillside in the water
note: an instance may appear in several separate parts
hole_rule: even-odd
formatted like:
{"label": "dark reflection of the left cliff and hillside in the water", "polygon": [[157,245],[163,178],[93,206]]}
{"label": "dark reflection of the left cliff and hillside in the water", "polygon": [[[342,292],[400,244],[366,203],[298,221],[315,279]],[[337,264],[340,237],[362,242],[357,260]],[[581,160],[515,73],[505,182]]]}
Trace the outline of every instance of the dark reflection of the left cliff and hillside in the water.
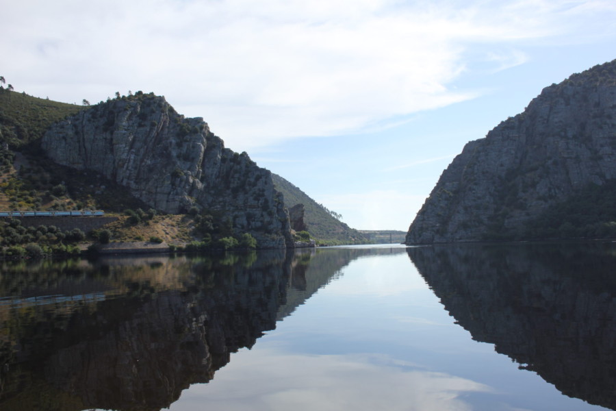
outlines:
{"label": "dark reflection of the left cliff and hillside in the water", "polygon": [[167,408],[371,253],[2,264],[0,409]]}

